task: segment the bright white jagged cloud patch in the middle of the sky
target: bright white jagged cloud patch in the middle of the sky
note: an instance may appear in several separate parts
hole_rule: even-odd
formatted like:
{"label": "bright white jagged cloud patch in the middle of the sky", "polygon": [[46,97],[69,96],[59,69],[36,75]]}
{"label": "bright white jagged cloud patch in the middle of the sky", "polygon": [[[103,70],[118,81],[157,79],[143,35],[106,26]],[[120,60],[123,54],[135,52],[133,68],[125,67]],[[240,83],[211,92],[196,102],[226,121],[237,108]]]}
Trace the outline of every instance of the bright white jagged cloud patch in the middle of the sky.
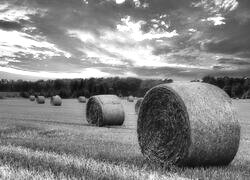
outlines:
{"label": "bright white jagged cloud patch in the middle of the sky", "polygon": [[[127,16],[121,19],[121,24],[117,25],[116,31],[104,30],[100,37],[79,30],[70,30],[68,33],[70,36],[78,37],[84,42],[81,50],[87,57],[99,59],[99,62],[104,64],[128,66],[127,62],[129,61],[133,66],[137,67],[172,66],[172,64],[167,63],[165,57],[154,55],[153,46],[144,43],[144,41],[169,39],[178,36],[176,31],[158,32],[151,29],[150,32],[144,33],[141,30],[143,23],[145,22],[132,21],[131,17]],[[88,48],[88,43],[91,48]],[[93,48],[93,45],[95,48]]]}

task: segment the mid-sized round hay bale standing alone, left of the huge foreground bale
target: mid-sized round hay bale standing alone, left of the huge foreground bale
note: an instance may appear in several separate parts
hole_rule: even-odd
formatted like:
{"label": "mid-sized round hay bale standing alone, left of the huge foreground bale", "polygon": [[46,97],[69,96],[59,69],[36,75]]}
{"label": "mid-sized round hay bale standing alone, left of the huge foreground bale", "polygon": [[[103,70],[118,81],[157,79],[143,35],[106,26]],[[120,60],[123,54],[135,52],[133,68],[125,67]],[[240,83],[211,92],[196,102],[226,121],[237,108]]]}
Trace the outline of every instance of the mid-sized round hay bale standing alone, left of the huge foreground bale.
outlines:
{"label": "mid-sized round hay bale standing alone, left of the huge foreground bale", "polygon": [[92,96],[88,100],[86,108],[89,124],[105,126],[122,125],[124,122],[123,106],[116,95]]}

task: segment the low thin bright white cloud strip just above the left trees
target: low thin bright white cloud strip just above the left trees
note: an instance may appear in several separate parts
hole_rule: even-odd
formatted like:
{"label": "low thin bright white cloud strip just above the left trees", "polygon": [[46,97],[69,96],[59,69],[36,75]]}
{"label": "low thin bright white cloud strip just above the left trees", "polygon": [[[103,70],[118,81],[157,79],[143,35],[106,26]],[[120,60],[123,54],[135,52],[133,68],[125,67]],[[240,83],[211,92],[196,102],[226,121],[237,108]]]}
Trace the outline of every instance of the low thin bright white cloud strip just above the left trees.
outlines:
{"label": "low thin bright white cloud strip just above the left trees", "polygon": [[13,67],[1,67],[0,66],[0,71],[12,73],[12,74],[24,75],[24,76],[33,76],[33,77],[38,77],[38,78],[49,78],[49,79],[51,78],[73,79],[73,78],[90,78],[90,77],[110,76],[109,73],[102,72],[99,69],[95,69],[95,68],[86,68],[78,73],[59,73],[59,72],[56,73],[56,72],[46,72],[46,71],[34,72],[34,71],[16,69]]}

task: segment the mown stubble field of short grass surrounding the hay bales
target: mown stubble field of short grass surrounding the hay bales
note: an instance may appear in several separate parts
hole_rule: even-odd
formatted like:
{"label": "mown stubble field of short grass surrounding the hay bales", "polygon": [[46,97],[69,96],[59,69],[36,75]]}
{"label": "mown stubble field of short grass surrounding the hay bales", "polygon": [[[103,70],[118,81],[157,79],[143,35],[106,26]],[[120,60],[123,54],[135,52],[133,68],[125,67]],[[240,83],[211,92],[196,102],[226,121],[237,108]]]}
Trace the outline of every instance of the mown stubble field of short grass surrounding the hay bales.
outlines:
{"label": "mown stubble field of short grass surrounding the hay bales", "polygon": [[250,179],[250,101],[233,101],[242,126],[235,160],[226,167],[160,168],[137,143],[135,102],[123,101],[125,124],[94,127],[86,104],[26,99],[0,101],[0,178],[6,179]]}

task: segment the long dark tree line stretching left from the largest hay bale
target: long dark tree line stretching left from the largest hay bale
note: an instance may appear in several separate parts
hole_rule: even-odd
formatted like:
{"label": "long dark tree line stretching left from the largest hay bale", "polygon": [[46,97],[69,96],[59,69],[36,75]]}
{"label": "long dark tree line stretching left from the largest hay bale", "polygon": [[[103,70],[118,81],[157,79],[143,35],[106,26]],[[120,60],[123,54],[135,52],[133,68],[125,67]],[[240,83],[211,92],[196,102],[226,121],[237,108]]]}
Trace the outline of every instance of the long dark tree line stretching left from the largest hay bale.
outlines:
{"label": "long dark tree line stretching left from the largest hay bale", "polygon": [[142,80],[138,78],[89,78],[89,79],[56,79],[56,80],[0,80],[1,92],[20,92],[20,96],[43,95],[62,98],[90,97],[98,94],[116,94],[118,96],[142,97],[152,87],[173,82],[172,79]]}

